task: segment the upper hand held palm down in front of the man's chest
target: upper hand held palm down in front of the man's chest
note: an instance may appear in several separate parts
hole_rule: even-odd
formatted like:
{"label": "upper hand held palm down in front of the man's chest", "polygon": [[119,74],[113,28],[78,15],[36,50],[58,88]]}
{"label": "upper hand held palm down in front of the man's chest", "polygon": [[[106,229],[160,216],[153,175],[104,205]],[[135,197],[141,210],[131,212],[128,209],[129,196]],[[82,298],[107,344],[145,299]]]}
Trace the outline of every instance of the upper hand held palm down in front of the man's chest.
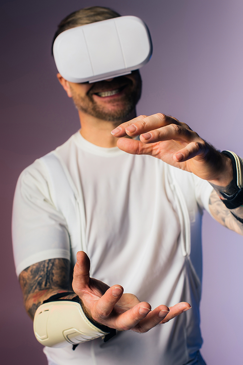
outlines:
{"label": "upper hand held palm down in front of the man's chest", "polygon": [[147,154],[226,186],[233,178],[230,160],[177,119],[157,113],[140,115],[111,132],[115,137],[140,135],[140,141],[121,138],[117,146],[132,154]]}

